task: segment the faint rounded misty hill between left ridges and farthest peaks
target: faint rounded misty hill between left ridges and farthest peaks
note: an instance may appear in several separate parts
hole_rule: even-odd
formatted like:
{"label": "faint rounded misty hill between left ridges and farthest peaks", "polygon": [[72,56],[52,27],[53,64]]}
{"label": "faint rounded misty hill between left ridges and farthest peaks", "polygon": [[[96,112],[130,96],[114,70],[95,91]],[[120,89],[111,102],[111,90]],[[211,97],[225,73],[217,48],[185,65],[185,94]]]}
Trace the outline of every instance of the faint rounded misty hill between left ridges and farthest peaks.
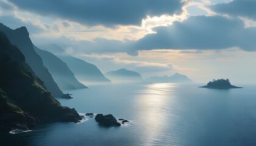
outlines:
{"label": "faint rounded misty hill between left ridges and farthest peaks", "polygon": [[106,72],[104,75],[113,83],[146,83],[138,72],[127,69]]}

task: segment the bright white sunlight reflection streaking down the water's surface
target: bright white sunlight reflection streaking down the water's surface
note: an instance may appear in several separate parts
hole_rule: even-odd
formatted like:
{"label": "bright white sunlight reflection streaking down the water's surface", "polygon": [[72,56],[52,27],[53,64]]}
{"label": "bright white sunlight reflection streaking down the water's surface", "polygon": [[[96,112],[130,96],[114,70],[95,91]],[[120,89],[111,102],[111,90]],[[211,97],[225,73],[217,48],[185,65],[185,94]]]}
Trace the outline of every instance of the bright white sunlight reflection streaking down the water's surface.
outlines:
{"label": "bright white sunlight reflection streaking down the water's surface", "polygon": [[[144,136],[154,137],[155,139],[151,139],[155,141],[163,132],[164,125],[171,124],[172,120],[166,119],[166,113],[168,111],[168,106],[166,104],[166,100],[169,94],[168,89],[171,89],[171,84],[166,83],[157,83],[148,85],[143,91],[141,91],[141,96],[136,98],[137,101],[135,103],[138,104],[138,107],[150,107],[143,108],[140,111],[140,121],[144,121],[143,124],[146,127],[149,127],[146,131],[143,131]],[[161,119],[161,120],[159,120]],[[165,121],[165,122],[160,122]],[[150,143],[150,142],[149,142]]]}

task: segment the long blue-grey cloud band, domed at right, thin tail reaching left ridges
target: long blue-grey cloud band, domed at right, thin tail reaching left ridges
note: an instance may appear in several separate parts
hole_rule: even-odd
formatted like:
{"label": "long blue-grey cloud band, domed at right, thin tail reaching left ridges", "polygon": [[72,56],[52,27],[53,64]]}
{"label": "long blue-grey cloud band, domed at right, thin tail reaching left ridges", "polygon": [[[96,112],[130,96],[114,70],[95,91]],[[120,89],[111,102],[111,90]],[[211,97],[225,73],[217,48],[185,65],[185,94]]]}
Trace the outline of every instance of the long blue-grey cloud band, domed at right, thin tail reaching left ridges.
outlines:
{"label": "long blue-grey cloud band, domed at right, thin tail reaching left ridges", "polygon": [[[172,26],[156,27],[156,33],[148,34],[140,40],[118,41],[95,38],[93,41],[74,38],[38,38],[34,42],[59,44],[63,48],[72,47],[76,54],[112,54],[126,52],[137,56],[140,50],[172,49],[188,50],[180,53],[200,53],[199,50],[221,50],[239,47],[255,51],[256,27],[244,27],[241,19],[223,16],[191,16]],[[37,41],[38,40],[38,41]],[[38,44],[39,43],[39,44]],[[191,52],[189,50],[196,50]]]}

